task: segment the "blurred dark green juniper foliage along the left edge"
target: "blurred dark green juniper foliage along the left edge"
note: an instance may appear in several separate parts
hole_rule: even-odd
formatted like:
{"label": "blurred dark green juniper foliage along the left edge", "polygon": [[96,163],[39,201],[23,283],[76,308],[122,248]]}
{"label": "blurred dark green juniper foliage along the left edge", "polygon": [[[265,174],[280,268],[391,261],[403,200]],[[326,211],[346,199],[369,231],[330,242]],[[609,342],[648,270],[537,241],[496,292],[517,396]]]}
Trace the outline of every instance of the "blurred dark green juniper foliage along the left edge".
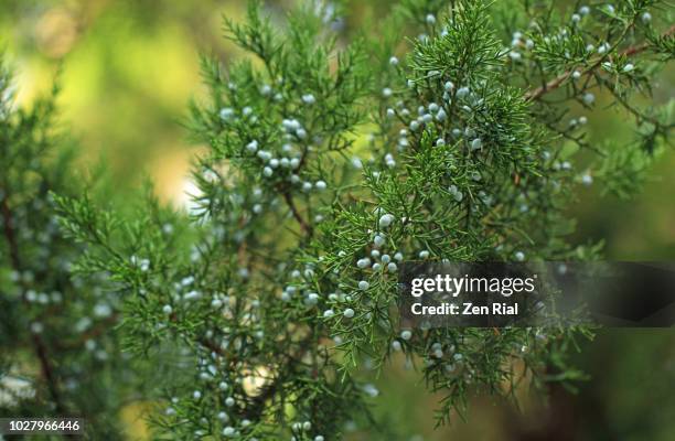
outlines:
{"label": "blurred dark green juniper foliage along the left edge", "polygon": [[83,247],[64,238],[51,192],[81,189],[56,89],[30,110],[13,90],[0,60],[0,417],[75,416],[92,439],[122,439],[116,415],[136,372],[115,332],[120,299],[71,277]]}

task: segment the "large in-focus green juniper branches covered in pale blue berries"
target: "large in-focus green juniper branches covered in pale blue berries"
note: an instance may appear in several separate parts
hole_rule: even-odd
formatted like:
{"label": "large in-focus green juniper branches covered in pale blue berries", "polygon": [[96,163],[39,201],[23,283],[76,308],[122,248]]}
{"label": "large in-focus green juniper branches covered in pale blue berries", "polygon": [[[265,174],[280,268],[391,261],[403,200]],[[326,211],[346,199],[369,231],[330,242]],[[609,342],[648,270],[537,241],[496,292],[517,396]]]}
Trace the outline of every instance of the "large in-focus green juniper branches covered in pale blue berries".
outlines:
{"label": "large in-focus green juniper branches covered in pale blue berries", "polygon": [[[126,347],[178,348],[158,437],[382,433],[368,381],[397,353],[443,394],[440,422],[473,391],[578,378],[565,354],[588,330],[406,329],[396,309],[404,261],[598,258],[568,239],[579,186],[628,196],[667,144],[672,101],[650,96],[673,58],[665,3],[556,3],[404,0],[377,37],[345,43],[333,8],[278,28],[254,2],[225,22],[250,57],[202,61],[190,216],[56,196],[86,245],[77,271],[120,301]],[[631,142],[589,140],[600,99]]]}

